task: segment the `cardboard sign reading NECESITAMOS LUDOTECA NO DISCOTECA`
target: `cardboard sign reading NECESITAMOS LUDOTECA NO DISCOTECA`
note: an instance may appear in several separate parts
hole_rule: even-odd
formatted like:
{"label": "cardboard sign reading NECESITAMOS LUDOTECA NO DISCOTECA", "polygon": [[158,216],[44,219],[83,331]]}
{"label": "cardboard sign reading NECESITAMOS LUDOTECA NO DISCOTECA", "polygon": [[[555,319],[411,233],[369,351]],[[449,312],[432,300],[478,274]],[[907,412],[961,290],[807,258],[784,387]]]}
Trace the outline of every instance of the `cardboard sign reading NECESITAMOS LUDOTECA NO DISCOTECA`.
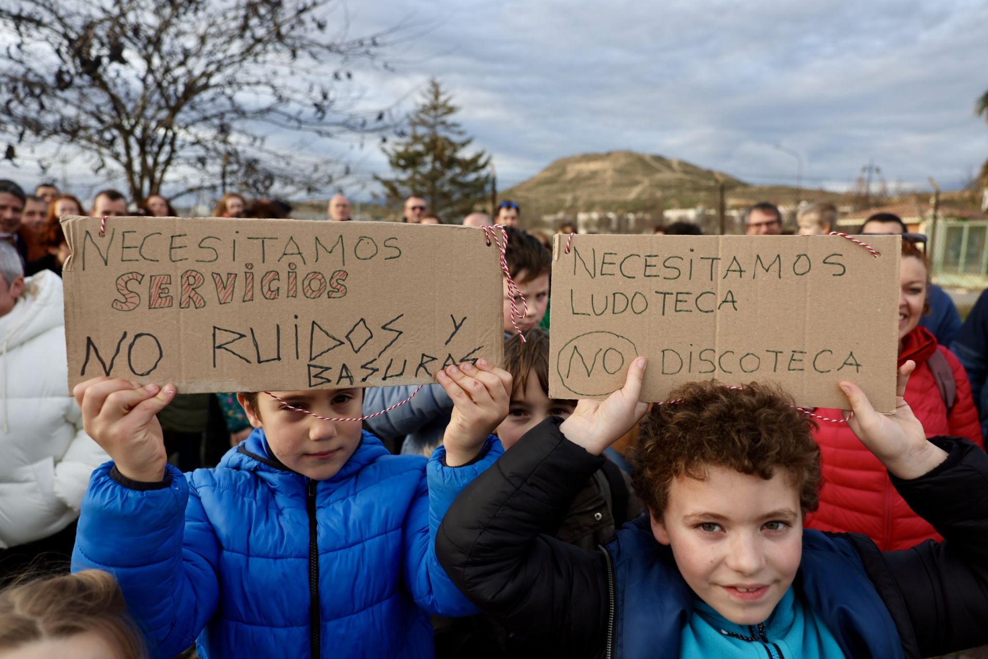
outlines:
{"label": "cardboard sign reading NECESITAMOS LUDOTECA NO DISCOTECA", "polygon": [[717,379],[779,382],[847,408],[851,380],[895,407],[901,237],[555,236],[549,394],[603,397],[648,357],[642,400]]}

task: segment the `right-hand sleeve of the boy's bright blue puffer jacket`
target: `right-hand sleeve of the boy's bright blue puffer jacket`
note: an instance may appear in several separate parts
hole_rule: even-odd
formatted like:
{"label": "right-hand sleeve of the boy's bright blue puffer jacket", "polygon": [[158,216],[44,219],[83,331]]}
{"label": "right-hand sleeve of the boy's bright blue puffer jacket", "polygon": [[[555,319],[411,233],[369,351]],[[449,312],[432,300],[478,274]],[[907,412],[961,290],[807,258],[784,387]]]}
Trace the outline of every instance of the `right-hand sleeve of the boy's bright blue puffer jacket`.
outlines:
{"label": "right-hand sleeve of the boy's bright blue puffer jacket", "polygon": [[436,616],[477,613],[460,593],[436,558],[436,532],[456,495],[504,453],[493,435],[477,459],[458,467],[446,466],[446,449],[437,449],[426,465],[426,479],[405,520],[405,575],[408,589],[422,610]]}

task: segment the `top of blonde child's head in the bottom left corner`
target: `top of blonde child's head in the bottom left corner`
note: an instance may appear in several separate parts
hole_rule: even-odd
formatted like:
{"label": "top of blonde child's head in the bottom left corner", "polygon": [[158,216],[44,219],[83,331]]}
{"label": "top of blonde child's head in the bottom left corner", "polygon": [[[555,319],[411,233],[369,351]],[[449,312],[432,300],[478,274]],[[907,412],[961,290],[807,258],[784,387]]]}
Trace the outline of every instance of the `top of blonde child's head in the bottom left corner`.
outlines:
{"label": "top of blonde child's head in the bottom left corner", "polygon": [[108,572],[85,570],[0,592],[0,659],[144,659],[143,637]]}

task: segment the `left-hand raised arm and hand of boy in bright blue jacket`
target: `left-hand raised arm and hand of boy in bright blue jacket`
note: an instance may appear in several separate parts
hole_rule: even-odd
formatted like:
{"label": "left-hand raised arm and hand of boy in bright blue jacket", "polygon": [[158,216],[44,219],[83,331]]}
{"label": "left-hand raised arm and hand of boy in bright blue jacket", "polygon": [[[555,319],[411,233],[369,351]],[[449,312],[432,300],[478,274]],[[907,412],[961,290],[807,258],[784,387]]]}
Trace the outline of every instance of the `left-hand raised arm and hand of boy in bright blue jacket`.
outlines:
{"label": "left-hand raised arm and hand of boy in bright blue jacket", "polygon": [[175,387],[100,377],[75,387],[87,433],[114,462],[93,474],[72,569],[119,581],[154,656],[187,648],[219,601],[219,545],[196,491],[167,465],[155,415]]}

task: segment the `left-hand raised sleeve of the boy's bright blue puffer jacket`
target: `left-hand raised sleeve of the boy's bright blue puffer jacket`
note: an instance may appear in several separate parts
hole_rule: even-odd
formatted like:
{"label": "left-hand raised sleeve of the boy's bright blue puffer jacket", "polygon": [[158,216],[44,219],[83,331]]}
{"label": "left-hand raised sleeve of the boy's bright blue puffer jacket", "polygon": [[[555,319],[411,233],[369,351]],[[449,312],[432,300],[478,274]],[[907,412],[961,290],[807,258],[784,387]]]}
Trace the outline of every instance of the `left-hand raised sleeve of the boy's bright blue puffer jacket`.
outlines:
{"label": "left-hand raised sleeve of the boy's bright blue puffer jacket", "polygon": [[173,657],[216,611],[219,545],[199,495],[177,468],[168,465],[158,489],[137,490],[118,482],[113,466],[93,472],[72,571],[112,573],[152,656]]}

